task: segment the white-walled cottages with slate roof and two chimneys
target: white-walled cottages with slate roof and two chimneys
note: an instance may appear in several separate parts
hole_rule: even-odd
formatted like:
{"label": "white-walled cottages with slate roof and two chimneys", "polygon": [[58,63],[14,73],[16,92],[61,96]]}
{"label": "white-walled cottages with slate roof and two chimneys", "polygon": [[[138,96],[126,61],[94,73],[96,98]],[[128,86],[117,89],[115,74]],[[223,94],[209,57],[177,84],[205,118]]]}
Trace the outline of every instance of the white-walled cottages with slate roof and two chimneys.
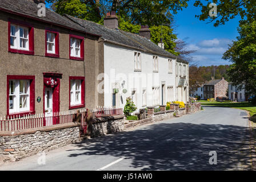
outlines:
{"label": "white-walled cottages with slate roof and two chimneys", "polygon": [[102,35],[99,42],[104,75],[97,80],[105,106],[124,107],[129,96],[138,109],[169,101],[188,101],[188,63],[165,51],[160,47],[163,45],[151,42],[149,27],[142,26],[139,35],[119,30],[114,12],[107,14],[104,26],[65,16],[85,31]]}

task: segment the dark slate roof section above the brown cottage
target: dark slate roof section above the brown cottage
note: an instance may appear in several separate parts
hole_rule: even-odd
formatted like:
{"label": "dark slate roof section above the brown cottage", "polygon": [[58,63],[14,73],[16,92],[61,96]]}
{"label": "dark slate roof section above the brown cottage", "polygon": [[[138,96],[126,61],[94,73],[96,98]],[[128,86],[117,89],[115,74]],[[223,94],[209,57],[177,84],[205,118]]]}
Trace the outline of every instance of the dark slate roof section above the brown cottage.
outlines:
{"label": "dark slate roof section above the brown cottage", "polygon": [[84,28],[82,26],[79,26],[79,24],[74,23],[73,21],[55,13],[54,11],[51,11],[50,9],[46,9],[45,17],[39,17],[37,15],[39,10],[37,3],[31,2],[29,0],[1,0],[0,10],[84,32]]}

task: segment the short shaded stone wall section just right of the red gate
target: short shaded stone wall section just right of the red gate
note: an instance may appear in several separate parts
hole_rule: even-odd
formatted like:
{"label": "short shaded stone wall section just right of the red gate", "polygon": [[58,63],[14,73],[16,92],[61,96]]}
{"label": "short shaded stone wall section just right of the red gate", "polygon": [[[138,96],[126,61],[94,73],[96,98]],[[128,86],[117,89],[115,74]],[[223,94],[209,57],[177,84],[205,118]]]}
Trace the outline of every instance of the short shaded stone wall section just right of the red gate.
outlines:
{"label": "short shaded stone wall section just right of the red gate", "polygon": [[118,131],[123,131],[125,129],[125,125],[123,123],[124,117],[124,115],[114,115],[110,117],[93,119],[90,137],[99,137]]}

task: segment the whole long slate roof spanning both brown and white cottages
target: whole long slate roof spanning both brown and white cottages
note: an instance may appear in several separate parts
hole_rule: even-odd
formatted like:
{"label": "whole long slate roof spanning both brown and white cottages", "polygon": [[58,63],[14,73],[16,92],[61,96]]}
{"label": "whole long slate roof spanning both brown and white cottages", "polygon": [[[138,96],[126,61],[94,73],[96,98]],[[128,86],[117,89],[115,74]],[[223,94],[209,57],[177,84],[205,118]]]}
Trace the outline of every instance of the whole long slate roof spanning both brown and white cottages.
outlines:
{"label": "whole long slate roof spanning both brown and white cottages", "polygon": [[[163,55],[166,57],[176,58],[177,56],[165,51],[161,47],[157,46],[150,40],[143,38],[137,34],[131,34],[122,30],[114,30],[107,28],[100,24],[90,22],[88,20],[82,20],[69,15],[59,15],[50,9],[46,9],[46,16],[39,17],[37,3],[29,0],[0,0],[0,10],[7,11],[22,15],[25,17],[41,20],[43,22],[56,24],[57,26],[69,28],[70,30],[77,30],[92,34],[95,36],[102,36],[102,38],[113,42],[122,44],[123,46],[133,47],[145,52],[155,53],[156,55]],[[187,61],[177,57],[178,62],[187,63]]]}

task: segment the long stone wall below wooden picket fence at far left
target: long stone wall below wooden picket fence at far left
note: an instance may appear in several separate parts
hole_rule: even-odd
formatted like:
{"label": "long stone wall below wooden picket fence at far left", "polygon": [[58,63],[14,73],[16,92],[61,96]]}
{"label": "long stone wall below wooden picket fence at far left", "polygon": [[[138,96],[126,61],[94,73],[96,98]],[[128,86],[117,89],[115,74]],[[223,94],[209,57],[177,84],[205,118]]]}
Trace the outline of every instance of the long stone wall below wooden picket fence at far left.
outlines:
{"label": "long stone wall below wooden picket fence at far left", "polygon": [[0,133],[0,163],[47,152],[79,140],[79,123]]}

